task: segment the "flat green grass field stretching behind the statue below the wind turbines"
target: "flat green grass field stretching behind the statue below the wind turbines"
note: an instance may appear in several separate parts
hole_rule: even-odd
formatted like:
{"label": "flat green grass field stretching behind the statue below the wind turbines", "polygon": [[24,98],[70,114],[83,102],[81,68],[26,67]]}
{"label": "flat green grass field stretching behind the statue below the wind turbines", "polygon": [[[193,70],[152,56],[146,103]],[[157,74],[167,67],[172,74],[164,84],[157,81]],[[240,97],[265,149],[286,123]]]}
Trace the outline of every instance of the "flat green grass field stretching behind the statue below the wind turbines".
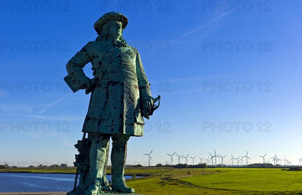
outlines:
{"label": "flat green grass field stretching behind the statue below the wind turbines", "polygon": [[[75,168],[15,168],[1,172],[75,173]],[[107,171],[109,174],[110,169]],[[302,171],[281,168],[131,168],[127,180],[141,194],[302,194]]]}

